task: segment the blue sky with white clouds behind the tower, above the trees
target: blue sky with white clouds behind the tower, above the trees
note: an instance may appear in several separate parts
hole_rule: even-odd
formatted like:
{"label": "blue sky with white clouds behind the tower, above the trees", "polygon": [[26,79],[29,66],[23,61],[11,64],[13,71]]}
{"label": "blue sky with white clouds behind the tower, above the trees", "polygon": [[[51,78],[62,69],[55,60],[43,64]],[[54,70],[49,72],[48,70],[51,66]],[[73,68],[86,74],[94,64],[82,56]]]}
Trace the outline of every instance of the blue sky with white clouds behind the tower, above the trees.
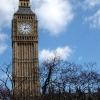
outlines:
{"label": "blue sky with white clouds behind the tower, above the trees", "polygon": [[[54,57],[100,65],[100,0],[31,0],[39,24],[39,61]],[[0,2],[0,64],[12,62],[11,21],[18,0]],[[100,68],[99,68],[100,69]]]}

